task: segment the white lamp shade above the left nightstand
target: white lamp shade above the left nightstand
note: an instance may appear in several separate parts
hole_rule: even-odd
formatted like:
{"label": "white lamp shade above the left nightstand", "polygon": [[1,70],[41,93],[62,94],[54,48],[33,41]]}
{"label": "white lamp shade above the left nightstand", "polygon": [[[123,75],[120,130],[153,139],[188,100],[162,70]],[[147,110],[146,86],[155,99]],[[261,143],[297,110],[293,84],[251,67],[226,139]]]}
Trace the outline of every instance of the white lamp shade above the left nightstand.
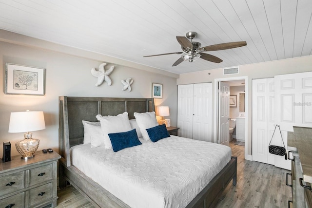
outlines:
{"label": "white lamp shade above the left nightstand", "polygon": [[42,111],[12,112],[10,116],[9,132],[33,132],[45,129]]}

